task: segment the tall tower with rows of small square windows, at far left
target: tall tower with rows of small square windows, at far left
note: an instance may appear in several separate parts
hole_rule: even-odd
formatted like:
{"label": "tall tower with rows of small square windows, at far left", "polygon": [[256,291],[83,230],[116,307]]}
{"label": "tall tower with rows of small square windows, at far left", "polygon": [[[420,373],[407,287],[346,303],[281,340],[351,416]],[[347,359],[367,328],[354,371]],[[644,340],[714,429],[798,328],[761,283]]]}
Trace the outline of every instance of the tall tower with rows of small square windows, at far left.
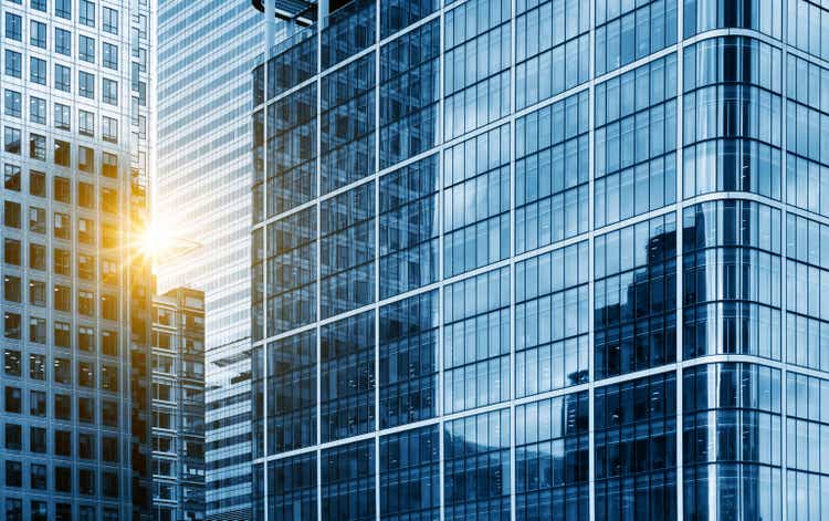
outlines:
{"label": "tall tower with rows of small square windows, at far left", "polygon": [[148,520],[147,0],[7,0],[2,518]]}

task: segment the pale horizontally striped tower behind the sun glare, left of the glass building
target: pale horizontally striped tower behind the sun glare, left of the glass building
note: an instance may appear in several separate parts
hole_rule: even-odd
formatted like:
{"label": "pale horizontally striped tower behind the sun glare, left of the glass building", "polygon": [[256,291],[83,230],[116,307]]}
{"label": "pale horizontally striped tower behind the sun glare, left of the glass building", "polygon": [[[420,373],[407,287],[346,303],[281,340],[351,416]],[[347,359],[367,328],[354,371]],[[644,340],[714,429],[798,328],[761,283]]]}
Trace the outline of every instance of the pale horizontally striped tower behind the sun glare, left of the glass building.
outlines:
{"label": "pale horizontally striped tower behind the sun glare, left of the glass building", "polygon": [[159,291],[204,292],[207,514],[248,520],[250,413],[250,70],[261,21],[246,0],[158,7],[155,210],[198,244],[157,267]]}

